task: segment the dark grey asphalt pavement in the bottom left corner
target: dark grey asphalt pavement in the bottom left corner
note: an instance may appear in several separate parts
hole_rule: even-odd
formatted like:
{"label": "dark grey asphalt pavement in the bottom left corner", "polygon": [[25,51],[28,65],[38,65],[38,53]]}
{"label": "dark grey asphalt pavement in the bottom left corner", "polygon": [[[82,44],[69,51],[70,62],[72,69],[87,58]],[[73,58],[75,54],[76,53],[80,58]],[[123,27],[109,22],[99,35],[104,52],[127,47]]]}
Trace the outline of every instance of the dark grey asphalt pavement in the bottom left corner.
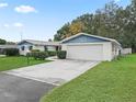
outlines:
{"label": "dark grey asphalt pavement in the bottom left corner", "polygon": [[55,86],[0,72],[0,102],[39,102]]}

